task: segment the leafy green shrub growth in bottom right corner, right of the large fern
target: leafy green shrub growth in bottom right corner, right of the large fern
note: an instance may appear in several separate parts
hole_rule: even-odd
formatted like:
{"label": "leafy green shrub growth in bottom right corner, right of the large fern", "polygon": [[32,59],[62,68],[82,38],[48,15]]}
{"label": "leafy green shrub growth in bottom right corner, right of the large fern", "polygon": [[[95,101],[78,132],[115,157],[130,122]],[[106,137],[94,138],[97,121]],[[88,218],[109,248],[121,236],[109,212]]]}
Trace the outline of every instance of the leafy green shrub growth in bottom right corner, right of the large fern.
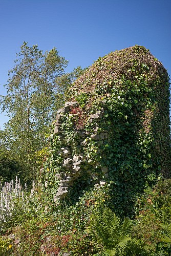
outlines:
{"label": "leafy green shrub growth in bottom right corner, right of the large fern", "polygon": [[146,244],[148,255],[171,253],[170,206],[170,179],[159,180],[155,186],[147,187],[138,199],[137,226],[133,233]]}

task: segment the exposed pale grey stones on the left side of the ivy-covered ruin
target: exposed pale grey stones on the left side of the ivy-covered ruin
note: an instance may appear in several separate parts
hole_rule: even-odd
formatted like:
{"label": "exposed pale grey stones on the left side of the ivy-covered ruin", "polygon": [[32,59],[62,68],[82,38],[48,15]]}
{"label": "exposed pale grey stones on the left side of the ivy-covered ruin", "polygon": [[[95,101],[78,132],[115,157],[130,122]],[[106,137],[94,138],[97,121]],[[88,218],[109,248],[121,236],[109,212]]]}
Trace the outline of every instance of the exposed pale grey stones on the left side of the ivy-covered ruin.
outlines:
{"label": "exposed pale grey stones on the left side of the ivy-covered ruin", "polygon": [[[66,113],[70,113],[70,111],[73,108],[77,107],[78,103],[76,101],[71,101],[66,102],[65,106],[57,111],[54,134],[58,136],[58,140],[63,141],[65,139],[65,137],[62,136],[61,130],[63,115],[65,115]],[[67,196],[69,188],[72,187],[72,184],[75,181],[75,179],[81,175],[81,167],[85,161],[88,161],[88,159],[85,156],[83,156],[83,148],[84,146],[87,145],[87,141],[89,139],[92,139],[97,142],[97,145],[101,145],[101,140],[108,138],[108,133],[106,132],[101,132],[97,134],[99,129],[99,127],[97,126],[97,122],[99,122],[102,118],[103,112],[103,109],[101,109],[101,111],[98,111],[97,113],[90,115],[89,122],[93,122],[93,120],[96,121],[96,126],[94,127],[93,134],[90,135],[86,131],[77,131],[76,129],[74,130],[73,128],[74,132],[77,134],[78,137],[77,141],[74,142],[74,146],[77,147],[77,152],[79,153],[78,155],[72,156],[72,144],[66,147],[61,147],[58,151],[58,154],[63,158],[62,167],[65,170],[60,174],[56,174],[56,178],[59,180],[59,187],[57,189],[56,196],[54,196],[55,202]],[[96,163],[96,165],[98,165],[98,163]],[[102,167],[101,170],[104,175],[108,173],[108,168],[106,167]],[[91,170],[87,170],[87,173],[90,173],[92,177],[97,177],[96,174],[92,174]]]}

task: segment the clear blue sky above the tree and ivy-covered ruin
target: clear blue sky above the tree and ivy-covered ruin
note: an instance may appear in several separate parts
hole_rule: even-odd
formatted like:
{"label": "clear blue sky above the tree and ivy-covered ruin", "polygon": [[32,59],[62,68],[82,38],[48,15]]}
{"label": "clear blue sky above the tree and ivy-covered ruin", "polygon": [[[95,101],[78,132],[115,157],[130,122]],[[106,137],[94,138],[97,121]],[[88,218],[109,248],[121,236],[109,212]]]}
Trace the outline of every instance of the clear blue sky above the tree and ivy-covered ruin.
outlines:
{"label": "clear blue sky above the tree and ivy-covered ruin", "polygon": [[[141,45],[171,74],[170,0],[0,0],[0,94],[23,41],[69,60],[67,72]],[[0,114],[0,127],[8,119]]]}

